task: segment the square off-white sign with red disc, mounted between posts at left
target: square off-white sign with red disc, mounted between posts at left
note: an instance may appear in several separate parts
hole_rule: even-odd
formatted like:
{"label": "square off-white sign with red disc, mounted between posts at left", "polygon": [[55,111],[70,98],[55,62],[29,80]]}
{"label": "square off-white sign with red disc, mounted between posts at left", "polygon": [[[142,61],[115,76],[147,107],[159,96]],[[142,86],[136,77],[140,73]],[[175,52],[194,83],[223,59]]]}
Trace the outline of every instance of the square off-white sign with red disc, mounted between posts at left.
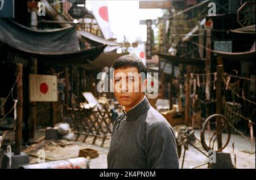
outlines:
{"label": "square off-white sign with red disc, mounted between posts at left", "polygon": [[56,102],[57,76],[30,74],[29,97],[34,102]]}

